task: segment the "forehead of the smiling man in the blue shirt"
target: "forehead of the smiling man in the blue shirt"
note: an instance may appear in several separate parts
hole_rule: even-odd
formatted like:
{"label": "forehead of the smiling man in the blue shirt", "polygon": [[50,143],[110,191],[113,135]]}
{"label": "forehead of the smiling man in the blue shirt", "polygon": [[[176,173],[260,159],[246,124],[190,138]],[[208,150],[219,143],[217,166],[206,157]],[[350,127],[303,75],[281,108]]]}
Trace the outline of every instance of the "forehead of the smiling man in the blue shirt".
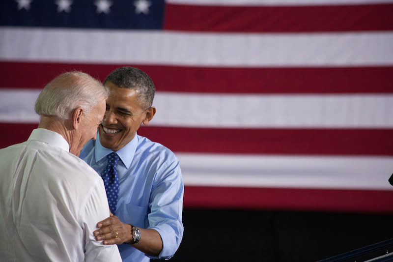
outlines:
{"label": "forehead of the smiling man in the blue shirt", "polygon": [[140,107],[139,93],[137,90],[131,88],[120,88],[112,82],[105,83],[105,86],[110,90],[107,102],[111,106],[122,108]]}

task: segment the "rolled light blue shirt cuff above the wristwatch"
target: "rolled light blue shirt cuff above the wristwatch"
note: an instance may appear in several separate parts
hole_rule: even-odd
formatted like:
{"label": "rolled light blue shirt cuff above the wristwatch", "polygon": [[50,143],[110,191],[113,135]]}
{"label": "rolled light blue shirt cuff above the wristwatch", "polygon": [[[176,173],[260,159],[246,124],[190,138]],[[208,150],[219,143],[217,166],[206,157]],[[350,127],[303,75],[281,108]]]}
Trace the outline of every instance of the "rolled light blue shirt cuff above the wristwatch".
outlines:
{"label": "rolled light blue shirt cuff above the wristwatch", "polygon": [[167,224],[161,224],[151,229],[156,230],[163,240],[163,250],[161,250],[158,257],[150,257],[151,259],[165,259],[168,260],[175,254],[177,250],[177,242],[173,229]]}

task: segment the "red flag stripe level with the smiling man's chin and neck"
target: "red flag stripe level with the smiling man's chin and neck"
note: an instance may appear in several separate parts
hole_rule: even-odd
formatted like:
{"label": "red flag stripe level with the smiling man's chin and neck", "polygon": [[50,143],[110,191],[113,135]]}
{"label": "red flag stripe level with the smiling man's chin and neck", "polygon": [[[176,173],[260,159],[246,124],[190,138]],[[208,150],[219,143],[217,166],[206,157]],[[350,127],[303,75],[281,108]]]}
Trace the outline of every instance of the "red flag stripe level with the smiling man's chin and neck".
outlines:
{"label": "red flag stripe level with the smiling man's chin and neck", "polygon": [[[2,123],[0,147],[28,139],[37,124]],[[140,127],[175,152],[393,155],[393,129],[232,129]]]}

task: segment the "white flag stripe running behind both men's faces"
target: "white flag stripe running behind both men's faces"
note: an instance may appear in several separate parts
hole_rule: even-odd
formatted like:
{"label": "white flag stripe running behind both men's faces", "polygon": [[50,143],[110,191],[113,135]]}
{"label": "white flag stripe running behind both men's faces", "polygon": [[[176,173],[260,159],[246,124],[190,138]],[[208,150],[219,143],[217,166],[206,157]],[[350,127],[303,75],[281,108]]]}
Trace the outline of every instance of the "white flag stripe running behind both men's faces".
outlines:
{"label": "white flag stripe running behind both men's faces", "polygon": [[[0,89],[0,121],[38,122],[40,90]],[[392,128],[393,95],[266,95],[157,92],[149,125],[240,128]]]}

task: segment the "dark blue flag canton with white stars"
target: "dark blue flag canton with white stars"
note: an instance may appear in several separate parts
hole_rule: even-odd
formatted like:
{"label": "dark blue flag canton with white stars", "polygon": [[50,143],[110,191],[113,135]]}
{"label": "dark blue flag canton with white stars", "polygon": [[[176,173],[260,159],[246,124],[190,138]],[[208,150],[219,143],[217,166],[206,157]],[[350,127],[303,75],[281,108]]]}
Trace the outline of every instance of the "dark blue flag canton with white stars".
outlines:
{"label": "dark blue flag canton with white stars", "polygon": [[4,0],[1,26],[162,29],[164,0]]}

